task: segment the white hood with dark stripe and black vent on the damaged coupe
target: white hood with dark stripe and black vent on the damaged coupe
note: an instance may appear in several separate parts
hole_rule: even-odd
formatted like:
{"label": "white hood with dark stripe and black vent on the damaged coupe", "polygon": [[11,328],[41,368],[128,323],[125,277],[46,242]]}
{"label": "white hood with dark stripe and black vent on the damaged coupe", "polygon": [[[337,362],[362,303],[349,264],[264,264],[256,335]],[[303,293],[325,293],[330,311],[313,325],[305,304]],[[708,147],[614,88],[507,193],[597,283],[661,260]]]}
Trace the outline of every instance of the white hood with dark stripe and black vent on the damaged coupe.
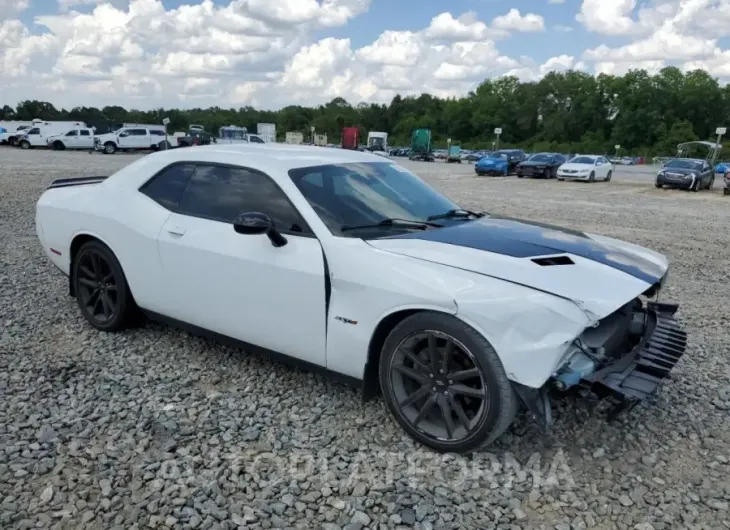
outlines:
{"label": "white hood with dark stripe and black vent on the damaged coupe", "polygon": [[[664,256],[638,245],[496,216],[368,243],[567,298],[594,319],[661,282],[668,269]],[[556,256],[562,264],[546,259]]]}

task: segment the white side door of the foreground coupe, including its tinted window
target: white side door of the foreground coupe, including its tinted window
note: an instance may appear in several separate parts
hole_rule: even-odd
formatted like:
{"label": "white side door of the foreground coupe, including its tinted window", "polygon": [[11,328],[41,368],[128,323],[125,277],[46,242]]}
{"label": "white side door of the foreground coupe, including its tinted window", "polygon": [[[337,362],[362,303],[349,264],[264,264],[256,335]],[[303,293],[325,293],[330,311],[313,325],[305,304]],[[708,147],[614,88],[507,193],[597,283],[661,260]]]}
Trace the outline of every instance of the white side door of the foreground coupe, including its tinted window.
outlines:
{"label": "white side door of the foreground coupe, including its tinted window", "polygon": [[[268,176],[196,163],[159,235],[165,314],[324,366],[325,270],[319,240]],[[244,235],[233,220],[271,217],[286,238]]]}

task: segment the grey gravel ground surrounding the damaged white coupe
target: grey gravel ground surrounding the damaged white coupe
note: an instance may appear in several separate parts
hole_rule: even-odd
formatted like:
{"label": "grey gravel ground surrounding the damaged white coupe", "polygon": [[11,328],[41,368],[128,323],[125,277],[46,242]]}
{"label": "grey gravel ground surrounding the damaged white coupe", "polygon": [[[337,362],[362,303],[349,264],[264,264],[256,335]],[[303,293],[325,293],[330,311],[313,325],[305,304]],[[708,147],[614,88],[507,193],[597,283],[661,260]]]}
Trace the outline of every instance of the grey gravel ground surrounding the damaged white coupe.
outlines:
{"label": "grey gravel ground surrounding the damaged white coupe", "polygon": [[649,246],[687,355],[607,424],[573,403],[470,458],[415,446],[380,400],[158,325],[86,325],[42,255],[52,179],[133,155],[0,149],[0,528],[730,528],[730,202],[651,185],[475,178],[408,163],[464,206]]}

